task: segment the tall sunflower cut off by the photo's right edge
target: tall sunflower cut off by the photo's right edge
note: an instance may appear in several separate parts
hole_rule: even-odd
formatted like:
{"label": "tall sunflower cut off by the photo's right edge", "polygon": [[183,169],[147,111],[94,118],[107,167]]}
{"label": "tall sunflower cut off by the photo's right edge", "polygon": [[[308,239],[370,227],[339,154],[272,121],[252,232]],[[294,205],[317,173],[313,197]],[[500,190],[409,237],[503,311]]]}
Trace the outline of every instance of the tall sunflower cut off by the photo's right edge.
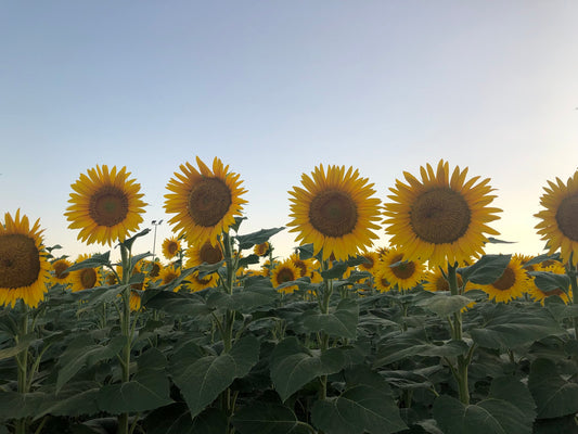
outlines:
{"label": "tall sunflower cut off by the photo's right edge", "polygon": [[556,178],[556,183],[548,181],[545,194],[540,197],[540,205],[545,209],[535,214],[541,219],[536,225],[547,248],[552,254],[560,248],[564,261],[571,257],[578,264],[578,170],[564,183]]}

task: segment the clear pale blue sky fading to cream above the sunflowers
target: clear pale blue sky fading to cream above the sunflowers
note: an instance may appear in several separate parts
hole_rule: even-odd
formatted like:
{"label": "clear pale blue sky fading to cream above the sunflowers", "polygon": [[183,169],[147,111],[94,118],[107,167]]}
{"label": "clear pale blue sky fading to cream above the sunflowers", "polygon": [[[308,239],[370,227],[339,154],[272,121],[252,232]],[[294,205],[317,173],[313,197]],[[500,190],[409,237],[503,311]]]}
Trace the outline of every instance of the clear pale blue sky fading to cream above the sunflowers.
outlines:
{"label": "clear pale blue sky fading to cream above the sunflowers", "polygon": [[241,174],[242,233],[286,225],[287,191],[320,163],[385,201],[445,158],[497,189],[492,227],[516,244],[488,253],[542,253],[542,188],[578,168],[577,22],[573,0],[0,0],[2,219],[40,218],[73,258],[105,252],[63,214],[81,173],[126,166],[141,229],[165,220],[158,254],[166,184],[196,155]]}

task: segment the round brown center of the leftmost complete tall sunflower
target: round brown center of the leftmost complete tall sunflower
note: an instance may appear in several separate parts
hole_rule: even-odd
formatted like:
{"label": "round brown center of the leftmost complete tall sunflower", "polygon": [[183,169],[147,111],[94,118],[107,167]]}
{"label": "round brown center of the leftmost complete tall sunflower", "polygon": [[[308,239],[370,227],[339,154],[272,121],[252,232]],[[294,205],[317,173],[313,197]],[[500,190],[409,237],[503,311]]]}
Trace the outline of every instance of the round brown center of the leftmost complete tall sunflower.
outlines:
{"label": "round brown center of the leftmost complete tall sunflower", "polygon": [[90,218],[99,226],[113,227],[123,222],[128,214],[126,193],[113,186],[102,187],[90,197]]}

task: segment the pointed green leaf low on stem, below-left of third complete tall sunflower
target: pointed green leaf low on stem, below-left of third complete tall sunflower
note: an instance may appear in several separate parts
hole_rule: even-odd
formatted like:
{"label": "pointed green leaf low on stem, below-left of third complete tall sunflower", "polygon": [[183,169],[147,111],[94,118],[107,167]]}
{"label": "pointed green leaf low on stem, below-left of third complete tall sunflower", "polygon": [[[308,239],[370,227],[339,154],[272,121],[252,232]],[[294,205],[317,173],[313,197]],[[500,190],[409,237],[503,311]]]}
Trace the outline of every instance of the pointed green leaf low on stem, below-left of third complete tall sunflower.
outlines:
{"label": "pointed green leaf low on stem, below-left of third complete tall sunflower", "polygon": [[280,342],[271,354],[271,380],[281,400],[285,401],[311,380],[341,371],[344,363],[339,348],[313,353],[292,336]]}

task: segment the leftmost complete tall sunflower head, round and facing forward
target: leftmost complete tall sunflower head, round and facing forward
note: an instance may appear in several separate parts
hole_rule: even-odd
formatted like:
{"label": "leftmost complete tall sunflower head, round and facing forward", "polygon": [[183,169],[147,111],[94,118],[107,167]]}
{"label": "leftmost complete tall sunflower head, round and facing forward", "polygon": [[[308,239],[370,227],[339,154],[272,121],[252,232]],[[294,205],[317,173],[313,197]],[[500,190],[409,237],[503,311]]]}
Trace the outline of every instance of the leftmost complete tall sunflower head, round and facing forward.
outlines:
{"label": "leftmost complete tall sunflower head, round and facing forward", "polygon": [[106,165],[97,165],[72,184],[75,192],[64,215],[72,221],[68,228],[80,229],[79,240],[111,245],[139,229],[146,204],[141,201],[141,186],[128,179],[129,175],[126,167],[117,171],[114,166],[108,171]]}

